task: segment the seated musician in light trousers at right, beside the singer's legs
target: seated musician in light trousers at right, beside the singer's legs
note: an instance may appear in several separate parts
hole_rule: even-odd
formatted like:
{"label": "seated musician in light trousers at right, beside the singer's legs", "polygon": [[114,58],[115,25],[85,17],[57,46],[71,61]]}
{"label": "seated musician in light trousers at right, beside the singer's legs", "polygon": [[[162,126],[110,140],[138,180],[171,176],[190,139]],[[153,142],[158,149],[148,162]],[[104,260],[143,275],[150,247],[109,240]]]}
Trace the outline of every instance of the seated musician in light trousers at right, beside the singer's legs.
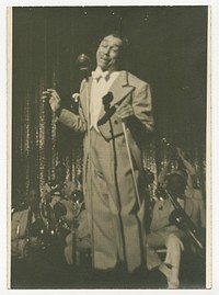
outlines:
{"label": "seated musician in light trousers at right, beside the singer's legs", "polygon": [[[198,226],[200,209],[194,198],[184,195],[186,180],[182,174],[171,173],[166,179],[168,194],[161,194],[152,209],[151,232],[147,235],[147,266],[149,270],[158,268],[168,281],[168,288],[180,287],[180,265],[182,251],[193,242],[188,230],[181,228],[176,220],[177,212],[170,195],[180,204],[195,226]],[[163,198],[162,198],[163,196]],[[166,248],[164,261],[160,259],[157,249]]]}

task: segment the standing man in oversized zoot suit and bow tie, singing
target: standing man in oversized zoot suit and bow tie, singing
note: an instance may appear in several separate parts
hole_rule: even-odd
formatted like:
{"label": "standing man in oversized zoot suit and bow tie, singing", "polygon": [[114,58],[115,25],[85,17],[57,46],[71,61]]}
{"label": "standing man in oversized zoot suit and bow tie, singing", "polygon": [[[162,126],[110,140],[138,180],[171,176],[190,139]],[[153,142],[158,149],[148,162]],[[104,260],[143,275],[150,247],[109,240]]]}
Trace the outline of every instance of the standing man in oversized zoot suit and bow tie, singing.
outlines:
{"label": "standing man in oversized zoot suit and bow tie, singing", "polygon": [[153,117],[149,84],[124,70],[126,49],[120,33],[102,39],[96,70],[81,83],[79,115],[60,107],[55,90],[44,91],[44,98],[59,122],[85,134],[83,189],[93,266],[132,272],[145,259],[141,148]]}

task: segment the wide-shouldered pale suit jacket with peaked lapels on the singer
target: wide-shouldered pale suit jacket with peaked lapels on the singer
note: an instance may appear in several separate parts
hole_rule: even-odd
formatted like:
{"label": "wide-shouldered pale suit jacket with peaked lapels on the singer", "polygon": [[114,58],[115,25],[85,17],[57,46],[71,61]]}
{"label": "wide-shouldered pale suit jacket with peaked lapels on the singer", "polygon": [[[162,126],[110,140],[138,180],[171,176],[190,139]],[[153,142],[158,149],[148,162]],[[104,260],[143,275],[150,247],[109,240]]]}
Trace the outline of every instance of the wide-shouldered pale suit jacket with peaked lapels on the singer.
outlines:
{"label": "wide-shouldered pale suit jacket with peaked lapels on the singer", "polygon": [[[92,78],[87,82],[81,83],[80,89],[80,107],[79,116],[74,115],[68,110],[61,110],[59,121],[74,131],[85,132],[84,139],[84,164],[89,154],[89,133],[90,128],[90,93],[91,93]],[[135,116],[127,121],[127,135],[129,147],[135,162],[142,171],[141,161],[141,141],[148,138],[148,134],[153,131],[153,116],[151,104],[151,92],[148,83],[138,79],[130,72],[120,71],[110,92],[113,95],[111,107],[106,114],[104,106],[100,112],[99,129],[105,140],[111,140],[112,137],[124,136],[122,120],[116,113],[116,105],[130,103],[134,107]],[[108,124],[108,118],[111,124]],[[113,133],[112,133],[113,129]]]}

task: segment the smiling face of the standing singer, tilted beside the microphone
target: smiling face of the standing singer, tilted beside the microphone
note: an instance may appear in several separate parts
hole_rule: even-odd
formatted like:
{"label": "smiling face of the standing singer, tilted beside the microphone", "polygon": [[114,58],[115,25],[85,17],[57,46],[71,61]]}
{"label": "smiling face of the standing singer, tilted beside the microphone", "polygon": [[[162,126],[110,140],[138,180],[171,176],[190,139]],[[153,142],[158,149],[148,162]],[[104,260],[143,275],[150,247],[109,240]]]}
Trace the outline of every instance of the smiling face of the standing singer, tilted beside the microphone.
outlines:
{"label": "smiling face of the standing singer, tilted beside the microphone", "polygon": [[123,41],[108,35],[104,37],[96,52],[96,64],[102,70],[117,70]]}

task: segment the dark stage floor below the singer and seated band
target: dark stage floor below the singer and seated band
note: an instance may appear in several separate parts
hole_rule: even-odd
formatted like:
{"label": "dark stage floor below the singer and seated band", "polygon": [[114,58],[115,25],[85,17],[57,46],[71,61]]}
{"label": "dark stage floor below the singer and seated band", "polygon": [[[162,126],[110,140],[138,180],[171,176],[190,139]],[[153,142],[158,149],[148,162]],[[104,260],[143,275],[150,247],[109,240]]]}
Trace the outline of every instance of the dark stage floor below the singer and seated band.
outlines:
{"label": "dark stage floor below the singer and seated band", "polygon": [[[58,249],[47,249],[26,260],[11,260],[11,288],[166,288],[165,277],[159,271],[138,270],[134,274],[117,271],[94,271],[87,258],[80,266],[69,266]],[[205,288],[205,268],[196,261],[181,270],[181,288]]]}

